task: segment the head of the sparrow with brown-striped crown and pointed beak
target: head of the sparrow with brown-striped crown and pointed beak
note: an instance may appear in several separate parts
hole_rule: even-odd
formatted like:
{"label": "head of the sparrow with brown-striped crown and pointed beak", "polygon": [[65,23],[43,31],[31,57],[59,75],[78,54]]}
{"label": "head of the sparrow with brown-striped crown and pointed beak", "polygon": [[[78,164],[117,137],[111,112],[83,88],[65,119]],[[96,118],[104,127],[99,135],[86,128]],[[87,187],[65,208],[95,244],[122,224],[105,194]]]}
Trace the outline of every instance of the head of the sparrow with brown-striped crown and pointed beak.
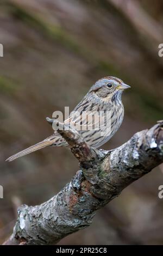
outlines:
{"label": "head of the sparrow with brown-striped crown and pointed beak", "polygon": [[123,83],[120,78],[107,76],[93,84],[89,92],[96,93],[98,97],[104,101],[108,101],[120,98],[123,90],[128,88],[130,88],[130,86]]}

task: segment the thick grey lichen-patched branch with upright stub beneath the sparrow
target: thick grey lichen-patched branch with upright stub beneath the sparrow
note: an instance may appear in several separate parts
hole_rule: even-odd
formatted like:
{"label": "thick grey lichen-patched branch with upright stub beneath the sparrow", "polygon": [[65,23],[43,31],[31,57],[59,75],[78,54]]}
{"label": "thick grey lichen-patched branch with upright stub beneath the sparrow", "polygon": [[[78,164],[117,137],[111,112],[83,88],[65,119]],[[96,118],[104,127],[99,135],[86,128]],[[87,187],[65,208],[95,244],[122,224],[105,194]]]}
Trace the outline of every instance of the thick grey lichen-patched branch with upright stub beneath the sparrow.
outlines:
{"label": "thick grey lichen-patched branch with upright stub beneath the sparrow", "polygon": [[47,202],[18,208],[13,234],[4,245],[54,245],[89,226],[96,210],[163,162],[163,121],[111,151],[90,148],[76,130],[66,128],[58,132],[70,145],[80,170]]}

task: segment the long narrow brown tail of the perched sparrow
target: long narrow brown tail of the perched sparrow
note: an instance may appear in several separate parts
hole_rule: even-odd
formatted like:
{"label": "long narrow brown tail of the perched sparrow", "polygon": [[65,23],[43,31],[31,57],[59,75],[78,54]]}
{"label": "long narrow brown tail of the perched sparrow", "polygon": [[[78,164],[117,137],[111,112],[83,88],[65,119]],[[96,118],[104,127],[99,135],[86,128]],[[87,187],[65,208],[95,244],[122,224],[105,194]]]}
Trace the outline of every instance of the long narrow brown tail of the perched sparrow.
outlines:
{"label": "long narrow brown tail of the perched sparrow", "polygon": [[44,139],[43,141],[39,142],[39,143],[36,143],[35,145],[27,148],[27,149],[24,149],[20,152],[18,152],[17,154],[13,155],[13,156],[10,156],[7,160],[5,161],[13,161],[15,159],[17,159],[18,157],[21,157],[21,156],[24,156],[24,155],[27,155],[27,154],[30,154],[36,150],[39,150],[39,149],[42,149],[42,148],[45,148],[45,147],[48,147],[48,146],[51,146],[55,141],[55,136],[50,136],[46,139]]}

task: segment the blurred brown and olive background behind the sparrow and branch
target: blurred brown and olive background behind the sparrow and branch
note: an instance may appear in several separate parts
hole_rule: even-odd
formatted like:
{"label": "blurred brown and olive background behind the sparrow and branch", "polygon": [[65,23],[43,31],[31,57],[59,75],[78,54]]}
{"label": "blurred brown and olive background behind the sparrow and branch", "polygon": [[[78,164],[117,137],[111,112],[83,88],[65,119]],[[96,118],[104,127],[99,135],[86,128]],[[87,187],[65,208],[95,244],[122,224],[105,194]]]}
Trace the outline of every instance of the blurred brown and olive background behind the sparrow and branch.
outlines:
{"label": "blurred brown and olive background behind the sparrow and branch", "polygon": [[[40,204],[78,170],[67,148],[7,157],[52,134],[45,118],[70,110],[103,76],[130,84],[112,149],[163,119],[163,2],[160,0],[12,0],[0,3],[0,242],[12,232],[20,204]],[[92,225],[59,244],[163,244],[163,166],[97,211]]]}

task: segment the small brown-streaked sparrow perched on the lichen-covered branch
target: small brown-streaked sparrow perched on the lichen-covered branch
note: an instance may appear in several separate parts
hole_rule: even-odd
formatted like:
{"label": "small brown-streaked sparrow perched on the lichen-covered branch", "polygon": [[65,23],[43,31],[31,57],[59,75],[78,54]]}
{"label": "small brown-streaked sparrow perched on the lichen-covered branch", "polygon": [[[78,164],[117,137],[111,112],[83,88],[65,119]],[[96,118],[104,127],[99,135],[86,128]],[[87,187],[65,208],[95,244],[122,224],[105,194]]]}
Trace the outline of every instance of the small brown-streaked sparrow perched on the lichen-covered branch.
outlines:
{"label": "small brown-streaked sparrow perched on the lichen-covered branch", "polygon": [[[99,79],[70,113],[69,117],[64,120],[64,123],[76,124],[76,129],[90,147],[101,147],[115,135],[122,124],[124,107],[121,96],[123,90],[128,88],[130,88],[128,84],[114,76],[106,76]],[[96,113],[97,117],[101,117],[102,121],[97,121],[98,118],[96,118],[96,121],[95,118],[89,119],[89,115],[86,116],[83,115],[83,113],[90,113],[91,116]],[[107,113],[109,113],[109,115],[107,115]],[[90,120],[92,120],[92,123]],[[53,123],[53,119],[47,118],[47,121]],[[81,126],[84,128],[79,129]],[[13,161],[18,157],[49,146],[67,147],[68,143],[62,138],[58,131],[55,130],[53,135],[10,156],[5,161]]]}

